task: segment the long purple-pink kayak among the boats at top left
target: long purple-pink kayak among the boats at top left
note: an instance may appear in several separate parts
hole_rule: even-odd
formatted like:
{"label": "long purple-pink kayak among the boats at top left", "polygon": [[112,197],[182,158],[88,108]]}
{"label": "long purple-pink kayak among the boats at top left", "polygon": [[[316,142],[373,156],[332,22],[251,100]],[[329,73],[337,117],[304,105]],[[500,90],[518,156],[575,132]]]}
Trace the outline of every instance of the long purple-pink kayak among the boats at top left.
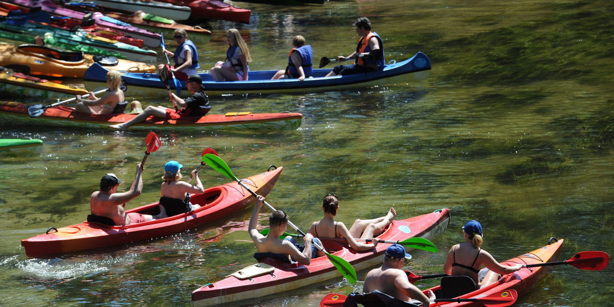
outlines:
{"label": "long purple-pink kayak among the boats at top left", "polygon": [[[41,7],[45,12],[49,12],[52,15],[61,16],[61,17],[69,17],[74,18],[76,20],[88,20],[92,19],[97,25],[104,26],[106,28],[115,29],[124,33],[126,36],[130,36],[136,39],[142,39],[143,44],[146,47],[160,47],[160,34],[152,33],[147,31],[146,29],[136,28],[135,26],[130,25],[129,23],[125,23],[120,20],[116,20],[111,17],[106,17],[99,12],[94,12],[91,15],[87,16],[87,14],[82,12],[77,12],[76,10],[66,9],[64,7],[58,7],[56,4],[49,0],[6,0],[5,2],[10,2],[14,4],[18,9],[23,12],[28,12],[29,9],[33,7]],[[146,5],[146,2],[141,2],[143,5]]]}

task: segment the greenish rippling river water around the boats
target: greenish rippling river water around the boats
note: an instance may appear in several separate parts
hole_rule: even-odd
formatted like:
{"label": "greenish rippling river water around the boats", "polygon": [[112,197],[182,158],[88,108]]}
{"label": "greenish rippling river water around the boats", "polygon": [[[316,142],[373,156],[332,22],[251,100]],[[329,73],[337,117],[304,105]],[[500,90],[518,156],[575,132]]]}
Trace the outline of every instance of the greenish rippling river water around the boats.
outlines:
{"label": "greenish rippling river water around the boats", "polygon": [[[284,166],[267,200],[303,230],[321,218],[326,193],[340,197],[337,220],[346,224],[391,206],[398,219],[451,209],[448,231],[433,240],[440,252],[411,252],[405,269],[416,274],[443,272],[468,219],[481,221],[484,249],[501,261],[551,236],[565,239],[561,260],[580,251],[612,254],[614,2],[235,4],[252,9],[252,22],[204,23],[214,37],[198,46],[203,69],[223,60],[231,27],[246,37],[251,69],[285,68],[297,34],[313,46],[316,63],[349,55],[357,41],[353,22],[365,15],[384,38],[387,60],[422,51],[432,61],[430,77],[352,91],[212,98],[216,114],[291,111],[305,118],[297,131],[158,133],[162,147],[148,158],[144,192],[129,208],[159,198],[166,161],[193,169],[212,147],[238,177]],[[104,173],[117,174],[126,182],[120,190],[128,188],[146,134],[2,128],[2,138],[45,145],[37,157],[0,158],[0,305],[191,306],[193,290],[254,263],[245,231],[251,208],[165,238],[26,257],[21,239],[85,220]],[[228,181],[208,168],[201,178],[206,186]],[[613,272],[611,265],[555,266],[516,306],[609,306]],[[366,272],[358,273],[353,287],[338,278],[235,305],[317,306],[327,293],[361,290]]]}

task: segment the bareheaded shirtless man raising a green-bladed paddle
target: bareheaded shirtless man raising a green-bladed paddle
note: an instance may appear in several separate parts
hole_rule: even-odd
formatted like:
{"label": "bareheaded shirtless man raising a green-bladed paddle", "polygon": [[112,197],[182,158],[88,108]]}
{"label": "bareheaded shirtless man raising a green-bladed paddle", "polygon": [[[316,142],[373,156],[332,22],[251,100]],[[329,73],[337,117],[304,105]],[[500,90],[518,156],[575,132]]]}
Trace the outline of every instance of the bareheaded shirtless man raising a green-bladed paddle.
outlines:
{"label": "bareheaded shirtless man raising a green-bladed paddle", "polygon": [[[258,195],[256,205],[254,206],[254,213],[252,213],[252,218],[249,220],[249,236],[252,237],[252,241],[256,244],[256,248],[258,252],[272,252],[275,254],[283,254],[290,257],[290,260],[296,260],[298,263],[303,265],[309,265],[311,263],[311,257],[313,254],[316,254],[318,250],[316,249],[311,241],[314,240],[313,235],[307,233],[305,235],[305,246],[303,247],[303,251],[300,251],[298,247],[293,244],[288,238],[281,240],[279,236],[283,235],[288,227],[288,216],[286,212],[277,210],[271,213],[269,217],[269,233],[266,236],[263,236],[258,232],[258,214],[260,213],[260,208],[264,204],[264,196]],[[316,243],[322,246],[319,239],[315,239]],[[324,252],[319,251],[324,255]]]}

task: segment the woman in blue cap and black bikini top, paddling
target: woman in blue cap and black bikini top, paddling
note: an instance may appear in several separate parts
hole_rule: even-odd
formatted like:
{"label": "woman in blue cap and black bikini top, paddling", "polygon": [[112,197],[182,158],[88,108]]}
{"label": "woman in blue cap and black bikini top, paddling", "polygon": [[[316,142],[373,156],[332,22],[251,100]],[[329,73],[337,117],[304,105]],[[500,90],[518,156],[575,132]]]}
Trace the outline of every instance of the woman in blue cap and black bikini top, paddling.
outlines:
{"label": "woman in blue cap and black bikini top, paddling", "polygon": [[[450,276],[469,276],[476,284],[476,289],[488,286],[500,278],[501,274],[510,274],[523,268],[523,265],[500,265],[495,258],[480,248],[483,242],[482,225],[476,220],[470,220],[462,228],[465,242],[454,245],[448,252],[448,259],[443,270]],[[486,266],[489,272],[482,282],[478,279],[481,266]]]}

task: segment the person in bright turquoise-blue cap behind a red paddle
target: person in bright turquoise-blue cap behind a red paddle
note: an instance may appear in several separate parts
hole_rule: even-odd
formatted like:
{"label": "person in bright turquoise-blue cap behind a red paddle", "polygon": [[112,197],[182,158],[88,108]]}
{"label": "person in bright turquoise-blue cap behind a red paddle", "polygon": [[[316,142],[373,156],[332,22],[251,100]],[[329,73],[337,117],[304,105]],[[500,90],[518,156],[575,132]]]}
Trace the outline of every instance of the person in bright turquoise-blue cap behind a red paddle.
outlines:
{"label": "person in bright turquoise-blue cap behind a red paddle", "polygon": [[203,184],[198,178],[196,169],[192,171],[192,177],[196,179],[196,184],[181,181],[181,169],[183,167],[175,160],[166,162],[164,166],[165,173],[162,176],[164,182],[160,187],[162,195],[160,205],[166,209],[167,216],[176,216],[200,208],[200,205],[190,202],[190,194],[202,194],[204,192]]}

